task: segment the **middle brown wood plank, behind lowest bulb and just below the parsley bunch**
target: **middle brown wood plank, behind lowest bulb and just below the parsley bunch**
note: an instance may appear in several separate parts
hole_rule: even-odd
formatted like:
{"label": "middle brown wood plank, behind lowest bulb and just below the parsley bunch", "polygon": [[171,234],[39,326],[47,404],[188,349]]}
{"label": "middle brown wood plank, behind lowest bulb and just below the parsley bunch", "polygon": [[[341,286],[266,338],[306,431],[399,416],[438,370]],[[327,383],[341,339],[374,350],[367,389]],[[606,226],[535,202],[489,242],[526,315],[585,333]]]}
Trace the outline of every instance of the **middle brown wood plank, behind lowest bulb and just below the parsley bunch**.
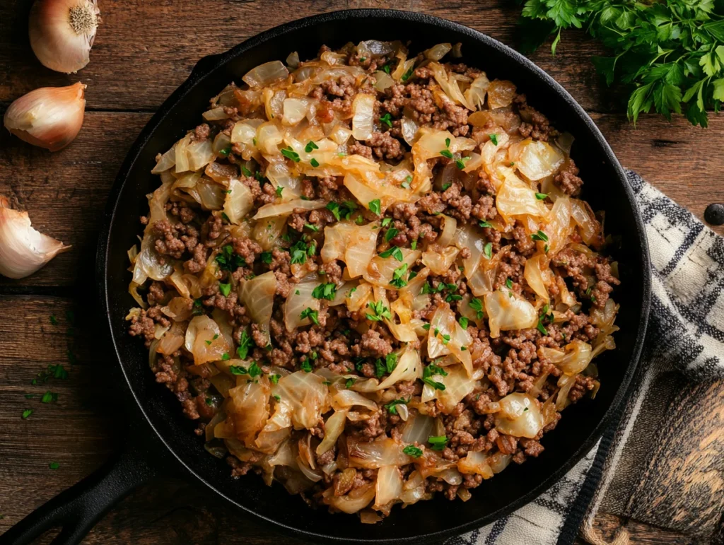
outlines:
{"label": "middle brown wood plank, behind lowest bulb and just below the parsley bunch", "polygon": [[[68,148],[49,153],[0,132],[0,193],[30,212],[33,225],[73,245],[49,266],[21,281],[0,285],[83,286],[93,282],[93,258],[106,195],[133,140],[150,114],[88,112]],[[724,195],[724,117],[712,118],[706,137],[676,117],[669,124],[649,115],[637,127],[621,114],[596,114],[623,166],[634,169],[699,219]],[[715,230],[724,234],[724,227]]]}

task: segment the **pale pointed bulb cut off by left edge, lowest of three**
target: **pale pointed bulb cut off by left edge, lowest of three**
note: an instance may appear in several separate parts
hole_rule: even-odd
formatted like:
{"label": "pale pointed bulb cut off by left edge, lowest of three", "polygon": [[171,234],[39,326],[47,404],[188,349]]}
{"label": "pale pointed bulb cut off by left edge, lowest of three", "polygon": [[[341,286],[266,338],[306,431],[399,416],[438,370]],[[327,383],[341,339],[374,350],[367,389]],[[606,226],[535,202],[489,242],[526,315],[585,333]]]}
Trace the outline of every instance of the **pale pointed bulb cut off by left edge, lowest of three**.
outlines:
{"label": "pale pointed bulb cut off by left edge, lowest of three", "polygon": [[66,250],[70,246],[30,227],[28,212],[13,210],[0,195],[0,274],[25,278]]}

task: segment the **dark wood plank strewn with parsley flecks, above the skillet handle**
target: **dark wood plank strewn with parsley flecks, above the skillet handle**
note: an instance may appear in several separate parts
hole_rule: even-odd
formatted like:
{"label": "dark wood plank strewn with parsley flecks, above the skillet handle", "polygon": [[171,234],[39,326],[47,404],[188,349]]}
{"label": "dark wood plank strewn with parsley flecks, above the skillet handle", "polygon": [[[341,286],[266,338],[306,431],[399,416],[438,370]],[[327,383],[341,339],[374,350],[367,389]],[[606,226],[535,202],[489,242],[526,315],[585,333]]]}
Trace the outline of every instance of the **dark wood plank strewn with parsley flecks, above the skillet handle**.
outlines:
{"label": "dark wood plank strewn with parsley flecks, above the skillet handle", "polygon": [[[91,342],[94,329],[93,315],[71,300],[0,296],[0,533],[91,473],[115,447],[107,358]],[[67,379],[37,379],[58,364]],[[57,401],[41,402],[45,392]],[[33,413],[23,419],[26,409]],[[60,467],[51,470],[50,462]]]}

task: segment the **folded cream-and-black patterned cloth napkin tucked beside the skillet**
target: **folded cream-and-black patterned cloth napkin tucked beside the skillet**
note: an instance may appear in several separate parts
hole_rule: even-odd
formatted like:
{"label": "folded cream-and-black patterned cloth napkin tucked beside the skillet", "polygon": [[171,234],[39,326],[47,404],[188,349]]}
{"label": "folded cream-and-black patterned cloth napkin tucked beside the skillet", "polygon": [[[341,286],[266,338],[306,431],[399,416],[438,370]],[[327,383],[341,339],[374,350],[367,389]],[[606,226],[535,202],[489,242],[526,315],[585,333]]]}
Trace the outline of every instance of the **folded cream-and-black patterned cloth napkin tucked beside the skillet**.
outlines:
{"label": "folded cream-and-black patterned cloth napkin tucked beside the skillet", "polygon": [[[668,371],[681,371],[691,381],[724,376],[724,238],[635,172],[626,177],[649,237],[653,300],[639,370],[618,426],[533,502],[446,545],[562,545],[579,531],[586,541],[604,544],[592,520],[602,502],[615,503],[607,493],[615,496],[617,489],[633,486],[631,453],[651,449],[659,421],[651,422],[641,408],[656,397],[657,376]],[[619,536],[616,543],[626,541]]]}

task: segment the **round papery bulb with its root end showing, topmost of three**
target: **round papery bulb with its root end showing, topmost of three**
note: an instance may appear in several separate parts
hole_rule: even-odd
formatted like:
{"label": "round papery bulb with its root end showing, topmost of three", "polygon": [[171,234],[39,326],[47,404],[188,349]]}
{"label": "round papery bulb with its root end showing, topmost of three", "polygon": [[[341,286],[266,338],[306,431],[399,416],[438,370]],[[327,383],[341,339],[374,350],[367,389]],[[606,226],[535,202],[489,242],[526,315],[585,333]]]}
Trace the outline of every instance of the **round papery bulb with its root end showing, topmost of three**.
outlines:
{"label": "round papery bulb with its root end showing, topmost of three", "polygon": [[44,66],[77,72],[88,64],[101,11],[96,0],[36,0],[30,9],[30,46]]}

